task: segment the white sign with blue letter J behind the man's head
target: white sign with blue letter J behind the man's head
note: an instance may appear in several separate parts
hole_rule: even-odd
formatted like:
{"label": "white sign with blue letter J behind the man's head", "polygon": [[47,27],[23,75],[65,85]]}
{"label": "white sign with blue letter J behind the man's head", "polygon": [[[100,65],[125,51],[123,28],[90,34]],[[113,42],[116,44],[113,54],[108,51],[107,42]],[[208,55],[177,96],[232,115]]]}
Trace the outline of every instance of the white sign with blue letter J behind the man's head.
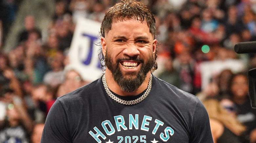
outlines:
{"label": "white sign with blue letter J behind the man's head", "polygon": [[[98,51],[100,23],[80,18],[76,24],[69,50],[70,65],[82,78],[92,82],[102,75]],[[101,57],[101,55],[100,55]]]}

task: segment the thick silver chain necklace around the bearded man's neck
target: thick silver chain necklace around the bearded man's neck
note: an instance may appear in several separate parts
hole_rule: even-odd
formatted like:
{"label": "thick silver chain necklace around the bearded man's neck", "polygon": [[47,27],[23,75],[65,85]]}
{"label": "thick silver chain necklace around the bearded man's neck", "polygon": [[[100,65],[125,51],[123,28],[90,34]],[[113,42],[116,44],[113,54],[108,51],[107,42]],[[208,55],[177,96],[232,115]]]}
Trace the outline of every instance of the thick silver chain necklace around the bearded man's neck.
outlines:
{"label": "thick silver chain necklace around the bearded man's neck", "polygon": [[102,83],[103,83],[103,86],[108,94],[109,97],[111,97],[113,100],[115,100],[116,102],[118,103],[121,103],[121,104],[124,104],[124,105],[134,105],[134,104],[137,104],[137,103],[140,103],[141,101],[143,101],[149,94],[150,90],[151,90],[151,86],[152,86],[152,74],[150,75],[150,79],[149,79],[149,82],[148,82],[148,87],[147,87],[147,90],[145,91],[145,93],[140,96],[138,99],[136,100],[130,100],[130,101],[126,101],[126,100],[122,100],[120,98],[118,98],[117,96],[115,96],[108,88],[108,84],[106,82],[106,77],[105,77],[105,74],[103,75],[102,77]]}

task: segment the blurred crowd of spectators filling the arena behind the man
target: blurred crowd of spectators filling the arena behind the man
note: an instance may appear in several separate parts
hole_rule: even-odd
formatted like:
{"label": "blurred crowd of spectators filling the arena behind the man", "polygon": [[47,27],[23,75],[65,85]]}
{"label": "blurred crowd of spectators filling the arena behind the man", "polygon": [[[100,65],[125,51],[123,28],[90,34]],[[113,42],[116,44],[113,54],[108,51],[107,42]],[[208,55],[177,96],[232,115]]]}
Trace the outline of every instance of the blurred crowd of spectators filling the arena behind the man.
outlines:
{"label": "blurred crowd of spectators filling the arena behind the man", "polygon": [[[47,39],[42,40],[35,15],[27,15],[9,53],[1,47],[20,1],[0,2],[0,142],[40,142],[55,99],[88,84],[76,69],[65,68],[76,22],[101,22],[116,2],[55,0]],[[247,77],[256,68],[256,56],[233,49],[238,42],[256,40],[256,1],[185,0],[179,7],[172,0],[141,2],[156,19],[160,46],[154,75],[204,103],[215,143],[256,143]]]}

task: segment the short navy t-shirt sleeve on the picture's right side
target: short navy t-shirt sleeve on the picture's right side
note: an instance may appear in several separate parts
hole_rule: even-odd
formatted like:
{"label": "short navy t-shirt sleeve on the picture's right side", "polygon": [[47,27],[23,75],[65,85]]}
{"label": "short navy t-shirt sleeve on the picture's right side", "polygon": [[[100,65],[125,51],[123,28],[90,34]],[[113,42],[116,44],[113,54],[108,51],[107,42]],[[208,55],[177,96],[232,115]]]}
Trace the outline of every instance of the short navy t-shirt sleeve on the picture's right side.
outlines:
{"label": "short navy t-shirt sleeve on the picture's right side", "polygon": [[190,143],[213,143],[209,116],[203,106],[203,103],[198,101],[190,134]]}

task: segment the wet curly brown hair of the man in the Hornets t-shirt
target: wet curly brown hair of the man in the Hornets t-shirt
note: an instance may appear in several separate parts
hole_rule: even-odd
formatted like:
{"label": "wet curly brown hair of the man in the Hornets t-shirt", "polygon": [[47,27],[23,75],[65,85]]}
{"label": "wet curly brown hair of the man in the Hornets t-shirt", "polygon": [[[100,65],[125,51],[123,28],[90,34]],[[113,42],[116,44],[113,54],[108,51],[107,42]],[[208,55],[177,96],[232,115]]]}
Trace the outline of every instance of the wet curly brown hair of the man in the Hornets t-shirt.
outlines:
{"label": "wet curly brown hair of the man in the Hornets t-shirt", "polygon": [[[138,20],[141,22],[145,21],[149,26],[149,32],[154,36],[154,39],[155,39],[156,20],[152,12],[143,3],[138,2],[136,0],[121,0],[119,3],[115,4],[113,7],[109,8],[108,11],[106,11],[100,27],[100,37],[105,38],[105,33],[108,33],[111,30],[112,23],[123,21],[126,18]],[[156,48],[156,53],[154,55],[155,63],[152,71],[158,68],[156,63],[156,59],[158,55],[157,49],[158,49],[158,44]],[[100,50],[99,54],[102,55],[100,59],[101,61],[100,63],[101,63],[101,66],[104,67],[105,65],[102,65],[104,61],[102,50]]]}

